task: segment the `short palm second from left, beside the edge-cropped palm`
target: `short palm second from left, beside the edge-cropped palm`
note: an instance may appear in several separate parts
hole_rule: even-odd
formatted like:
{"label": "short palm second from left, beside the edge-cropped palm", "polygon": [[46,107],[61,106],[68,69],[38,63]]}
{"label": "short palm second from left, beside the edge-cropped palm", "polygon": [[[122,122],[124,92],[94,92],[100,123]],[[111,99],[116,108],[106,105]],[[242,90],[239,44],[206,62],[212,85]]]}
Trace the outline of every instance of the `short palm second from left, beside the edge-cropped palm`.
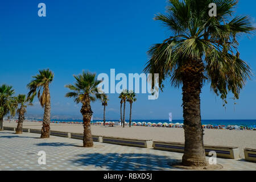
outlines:
{"label": "short palm second from left, beside the edge-cropped palm", "polygon": [[23,129],[23,121],[25,119],[24,114],[27,112],[26,108],[27,105],[32,105],[28,99],[26,98],[26,95],[19,94],[18,97],[15,97],[15,100],[17,104],[20,104],[19,109],[17,110],[17,113],[19,113],[19,119],[18,119],[18,125],[16,128],[16,134],[22,134]]}

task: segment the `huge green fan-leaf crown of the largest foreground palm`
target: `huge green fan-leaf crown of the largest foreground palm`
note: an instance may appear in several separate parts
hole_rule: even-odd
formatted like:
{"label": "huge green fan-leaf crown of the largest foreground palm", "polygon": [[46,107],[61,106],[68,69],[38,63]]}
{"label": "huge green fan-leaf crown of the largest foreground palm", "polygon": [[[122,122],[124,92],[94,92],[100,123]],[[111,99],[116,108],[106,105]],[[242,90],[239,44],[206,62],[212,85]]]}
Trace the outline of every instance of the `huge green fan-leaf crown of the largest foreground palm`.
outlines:
{"label": "huge green fan-leaf crown of the largest foreground palm", "polygon": [[[217,16],[209,16],[208,5],[216,3]],[[172,33],[163,43],[148,51],[146,72],[159,73],[159,84],[171,76],[180,86],[184,71],[201,72],[201,82],[208,80],[211,89],[226,102],[229,91],[239,98],[240,90],[251,75],[249,66],[240,59],[237,37],[255,30],[248,16],[233,16],[237,0],[170,0],[167,14],[155,19]],[[200,67],[191,67],[191,61]],[[186,75],[188,76],[188,75]]]}

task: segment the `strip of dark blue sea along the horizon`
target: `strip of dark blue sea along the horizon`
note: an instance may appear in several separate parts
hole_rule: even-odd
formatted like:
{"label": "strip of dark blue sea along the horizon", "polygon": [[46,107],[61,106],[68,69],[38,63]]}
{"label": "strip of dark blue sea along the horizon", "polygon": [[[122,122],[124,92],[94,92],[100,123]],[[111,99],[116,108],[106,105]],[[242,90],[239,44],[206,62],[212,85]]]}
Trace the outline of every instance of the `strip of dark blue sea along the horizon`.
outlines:
{"label": "strip of dark blue sea along the horizon", "polygon": [[[59,121],[59,122],[82,122],[82,120],[72,120],[72,119],[52,119],[52,121]],[[106,119],[106,122],[118,122],[119,120],[109,120]],[[102,122],[102,120],[93,120],[94,122]],[[126,122],[129,122],[129,120],[126,120]],[[173,120],[172,122],[169,122],[169,120],[164,120],[164,119],[133,119],[132,122],[151,122],[151,123],[183,123],[183,120]],[[202,119],[202,125],[213,125],[213,126],[218,126],[218,125],[237,125],[237,126],[247,126],[247,127],[253,127],[256,128],[256,119]]]}

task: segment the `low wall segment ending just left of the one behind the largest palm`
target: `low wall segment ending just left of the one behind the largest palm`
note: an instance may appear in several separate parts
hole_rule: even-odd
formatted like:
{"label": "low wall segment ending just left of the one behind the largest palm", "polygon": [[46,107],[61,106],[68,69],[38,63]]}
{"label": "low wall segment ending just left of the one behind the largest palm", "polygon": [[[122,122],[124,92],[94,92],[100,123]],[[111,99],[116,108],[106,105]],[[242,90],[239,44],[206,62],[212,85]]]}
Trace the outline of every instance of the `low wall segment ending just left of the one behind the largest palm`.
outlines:
{"label": "low wall segment ending just left of the one behind the largest palm", "polygon": [[103,137],[104,143],[120,144],[123,146],[133,146],[142,148],[152,148],[152,140],[136,140],[127,138]]}

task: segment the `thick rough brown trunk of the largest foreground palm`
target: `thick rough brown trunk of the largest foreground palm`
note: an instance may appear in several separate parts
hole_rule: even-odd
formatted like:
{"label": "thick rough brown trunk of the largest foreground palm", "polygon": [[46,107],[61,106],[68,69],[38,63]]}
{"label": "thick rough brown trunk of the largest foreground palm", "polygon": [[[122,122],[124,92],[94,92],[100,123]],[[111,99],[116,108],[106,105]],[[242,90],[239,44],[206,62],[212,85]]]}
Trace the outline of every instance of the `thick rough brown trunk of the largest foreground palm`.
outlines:
{"label": "thick rough brown trunk of the largest foreground palm", "polygon": [[200,93],[204,67],[196,61],[183,72],[184,166],[207,166],[200,113]]}

